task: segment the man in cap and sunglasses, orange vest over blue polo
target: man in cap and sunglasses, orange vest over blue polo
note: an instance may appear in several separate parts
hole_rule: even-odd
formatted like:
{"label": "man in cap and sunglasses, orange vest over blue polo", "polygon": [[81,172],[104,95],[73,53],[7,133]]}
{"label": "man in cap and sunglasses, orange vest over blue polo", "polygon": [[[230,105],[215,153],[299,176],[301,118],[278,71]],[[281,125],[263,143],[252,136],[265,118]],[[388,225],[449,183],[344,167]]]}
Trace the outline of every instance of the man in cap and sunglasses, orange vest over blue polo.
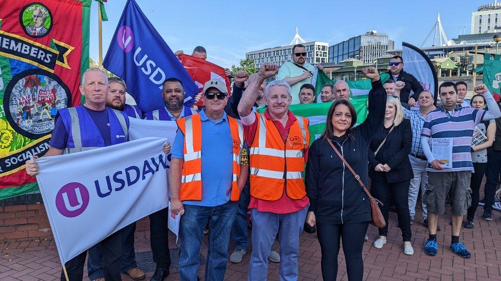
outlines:
{"label": "man in cap and sunglasses, orange vest over blue polo", "polygon": [[242,125],[224,112],[228,101],[224,81],[207,81],[203,101],[205,108],[200,113],[176,120],[179,130],[169,170],[171,210],[181,214],[181,280],[197,280],[207,222],[210,234],[205,280],[224,279],[229,234],[248,175],[248,165],[240,168]]}

